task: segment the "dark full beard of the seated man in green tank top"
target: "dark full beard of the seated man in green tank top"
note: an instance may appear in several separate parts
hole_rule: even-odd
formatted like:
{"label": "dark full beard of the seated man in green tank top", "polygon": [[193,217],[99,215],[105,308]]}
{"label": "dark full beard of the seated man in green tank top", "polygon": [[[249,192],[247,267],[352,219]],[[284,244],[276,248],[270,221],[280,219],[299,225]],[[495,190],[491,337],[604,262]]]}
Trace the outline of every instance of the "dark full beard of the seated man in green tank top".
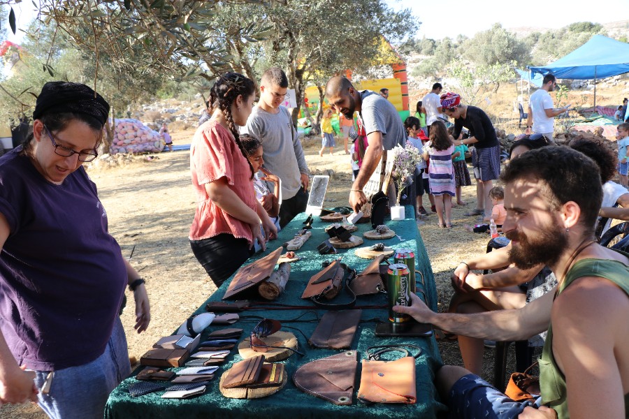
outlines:
{"label": "dark full beard of the seated man in green tank top", "polygon": [[509,260],[519,269],[530,269],[540,263],[554,265],[568,244],[567,234],[557,224],[549,224],[536,237],[526,237],[514,230],[505,236],[518,242],[509,251]]}

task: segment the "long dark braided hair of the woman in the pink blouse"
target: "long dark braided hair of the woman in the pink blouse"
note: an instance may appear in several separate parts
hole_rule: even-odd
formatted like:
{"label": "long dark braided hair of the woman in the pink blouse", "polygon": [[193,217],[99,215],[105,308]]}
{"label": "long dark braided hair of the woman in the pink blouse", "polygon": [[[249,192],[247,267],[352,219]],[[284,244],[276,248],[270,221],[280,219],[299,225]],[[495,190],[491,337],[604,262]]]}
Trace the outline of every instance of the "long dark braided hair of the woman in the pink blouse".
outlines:
{"label": "long dark braided hair of the woman in the pink blouse", "polygon": [[233,123],[231,105],[236,102],[236,98],[238,98],[239,95],[242,95],[243,98],[247,99],[252,94],[255,94],[255,91],[254,82],[239,73],[225,73],[224,75],[219,76],[214,86],[212,86],[212,90],[210,90],[210,103],[212,105],[212,110],[219,109],[223,112],[227,126],[229,126],[229,130],[233,134],[233,138],[236,140],[236,144],[238,144],[240,152],[249,164],[251,179],[254,177],[253,166],[251,166],[247,152],[245,152],[243,144],[240,142],[238,128],[236,128],[236,124]]}

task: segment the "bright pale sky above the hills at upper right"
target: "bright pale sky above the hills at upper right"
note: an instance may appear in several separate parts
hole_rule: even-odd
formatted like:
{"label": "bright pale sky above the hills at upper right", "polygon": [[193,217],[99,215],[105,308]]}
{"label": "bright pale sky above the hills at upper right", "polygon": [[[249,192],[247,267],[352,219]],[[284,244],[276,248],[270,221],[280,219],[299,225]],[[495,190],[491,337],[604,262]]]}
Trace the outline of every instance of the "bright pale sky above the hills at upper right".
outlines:
{"label": "bright pale sky above the hills at upper right", "polygon": [[[411,8],[422,22],[414,38],[468,37],[490,29],[496,22],[504,28],[536,27],[558,29],[574,22],[609,23],[629,19],[629,2],[586,0],[548,2],[505,0],[386,0],[398,10]],[[623,6],[624,5],[624,6]]]}

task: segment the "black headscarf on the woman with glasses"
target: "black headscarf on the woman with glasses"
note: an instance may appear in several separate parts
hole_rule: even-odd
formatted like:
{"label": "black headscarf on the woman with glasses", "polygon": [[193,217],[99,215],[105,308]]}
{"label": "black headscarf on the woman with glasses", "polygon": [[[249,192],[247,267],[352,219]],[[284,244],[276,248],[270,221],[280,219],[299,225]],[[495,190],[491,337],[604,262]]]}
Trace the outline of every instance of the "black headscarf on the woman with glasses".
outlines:
{"label": "black headscarf on the woman with glasses", "polygon": [[47,113],[80,113],[89,115],[102,125],[107,122],[109,103],[85,84],[48,82],[37,98],[33,119]]}

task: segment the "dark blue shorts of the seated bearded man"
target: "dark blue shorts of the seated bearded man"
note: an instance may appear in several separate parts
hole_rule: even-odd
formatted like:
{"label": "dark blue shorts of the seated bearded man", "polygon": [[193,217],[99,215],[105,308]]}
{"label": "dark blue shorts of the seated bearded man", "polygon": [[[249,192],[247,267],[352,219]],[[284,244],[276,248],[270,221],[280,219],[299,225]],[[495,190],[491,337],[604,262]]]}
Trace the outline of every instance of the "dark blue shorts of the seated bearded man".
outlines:
{"label": "dark blue shorts of the seated bearded man", "polygon": [[448,418],[517,418],[532,402],[514,402],[475,374],[462,376],[450,390]]}

